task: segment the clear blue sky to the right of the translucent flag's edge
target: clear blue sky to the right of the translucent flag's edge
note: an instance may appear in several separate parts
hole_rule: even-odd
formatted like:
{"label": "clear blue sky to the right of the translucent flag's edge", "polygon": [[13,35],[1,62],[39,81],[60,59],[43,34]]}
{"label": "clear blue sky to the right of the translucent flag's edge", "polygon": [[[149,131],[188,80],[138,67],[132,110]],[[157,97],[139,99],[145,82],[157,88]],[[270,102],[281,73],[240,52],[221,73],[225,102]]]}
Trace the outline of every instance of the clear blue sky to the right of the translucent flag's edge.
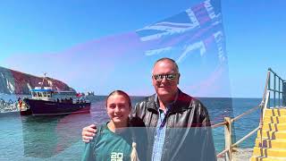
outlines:
{"label": "clear blue sky to the right of the translucent flag's edge", "polygon": [[271,67],[286,78],[285,1],[223,1],[223,26],[234,97],[262,97]]}

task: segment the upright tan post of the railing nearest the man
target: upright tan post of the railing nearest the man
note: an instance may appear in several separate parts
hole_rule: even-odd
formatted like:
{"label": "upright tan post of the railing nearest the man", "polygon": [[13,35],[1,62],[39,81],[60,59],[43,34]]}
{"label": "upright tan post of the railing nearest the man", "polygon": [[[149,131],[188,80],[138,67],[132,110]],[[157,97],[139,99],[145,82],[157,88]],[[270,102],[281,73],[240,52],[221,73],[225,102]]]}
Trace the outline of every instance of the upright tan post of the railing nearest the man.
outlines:
{"label": "upright tan post of the railing nearest the man", "polygon": [[226,160],[231,161],[231,118],[224,117],[226,124],[224,125],[224,141],[225,149],[228,149],[228,152],[225,153]]}

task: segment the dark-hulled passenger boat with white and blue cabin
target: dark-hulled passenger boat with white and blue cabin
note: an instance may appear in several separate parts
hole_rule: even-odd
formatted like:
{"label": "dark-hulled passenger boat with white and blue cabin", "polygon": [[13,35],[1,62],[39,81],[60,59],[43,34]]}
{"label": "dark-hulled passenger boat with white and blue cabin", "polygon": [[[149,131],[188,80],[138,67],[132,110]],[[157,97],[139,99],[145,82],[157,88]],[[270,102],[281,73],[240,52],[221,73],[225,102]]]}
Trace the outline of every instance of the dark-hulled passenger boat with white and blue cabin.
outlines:
{"label": "dark-hulled passenger boat with white and blue cabin", "polygon": [[[46,80],[46,75],[43,81]],[[44,84],[39,83],[39,84]],[[25,110],[21,114],[53,115],[89,113],[90,101],[77,97],[75,91],[63,91],[52,87],[30,89],[31,97],[23,98]]]}

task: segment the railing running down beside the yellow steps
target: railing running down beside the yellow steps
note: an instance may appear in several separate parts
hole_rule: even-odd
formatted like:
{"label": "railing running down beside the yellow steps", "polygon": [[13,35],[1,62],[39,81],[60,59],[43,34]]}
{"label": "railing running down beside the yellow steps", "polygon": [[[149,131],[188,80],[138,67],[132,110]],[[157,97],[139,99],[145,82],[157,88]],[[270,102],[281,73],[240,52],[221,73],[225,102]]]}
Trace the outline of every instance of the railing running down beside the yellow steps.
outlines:
{"label": "railing running down beside the yellow steps", "polygon": [[[273,79],[273,80],[272,80]],[[271,95],[273,94],[273,95]],[[271,98],[273,96],[273,98]],[[227,160],[231,160],[232,151],[237,150],[238,145],[247,140],[250,136],[255,134],[258,130],[260,130],[260,142],[262,142],[262,126],[263,126],[263,118],[265,115],[265,109],[270,107],[281,107],[286,104],[286,82],[282,80],[280,76],[278,76],[271,68],[268,68],[267,77],[265,81],[265,90],[262,97],[262,101],[259,105],[252,107],[248,111],[240,114],[234,118],[224,117],[223,123],[216,123],[212,125],[212,128],[217,128],[220,126],[224,127],[224,149],[219,152],[216,157],[222,157],[225,154],[225,158]],[[232,123],[237,122],[241,117],[246,116],[248,114],[252,114],[260,109],[260,119],[259,125],[254,130],[248,132],[247,135],[242,137],[240,140],[232,143]]]}

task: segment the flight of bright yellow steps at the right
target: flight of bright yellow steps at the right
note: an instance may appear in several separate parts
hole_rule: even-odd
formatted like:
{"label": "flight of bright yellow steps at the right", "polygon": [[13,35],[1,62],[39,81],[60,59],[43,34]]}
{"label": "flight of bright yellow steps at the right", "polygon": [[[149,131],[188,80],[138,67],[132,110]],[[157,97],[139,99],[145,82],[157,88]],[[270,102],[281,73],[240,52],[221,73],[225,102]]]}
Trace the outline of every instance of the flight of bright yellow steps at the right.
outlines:
{"label": "flight of bright yellow steps at the right", "polygon": [[256,147],[249,160],[286,161],[286,108],[266,109],[263,123],[262,130],[257,131]]}

